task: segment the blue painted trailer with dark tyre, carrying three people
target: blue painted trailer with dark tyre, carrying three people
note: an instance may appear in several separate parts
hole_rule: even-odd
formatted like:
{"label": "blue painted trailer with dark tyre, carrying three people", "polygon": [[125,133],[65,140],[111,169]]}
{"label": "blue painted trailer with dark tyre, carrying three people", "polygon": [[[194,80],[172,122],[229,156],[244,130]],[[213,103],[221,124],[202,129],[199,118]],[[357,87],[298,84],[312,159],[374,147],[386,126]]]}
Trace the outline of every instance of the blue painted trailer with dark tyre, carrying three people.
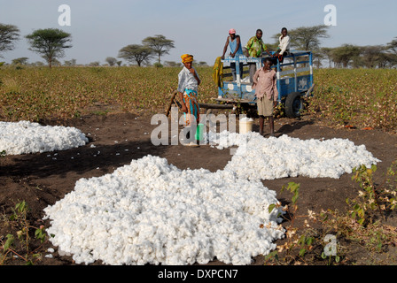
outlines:
{"label": "blue painted trailer with dark tyre, carrying three people", "polygon": [[[263,66],[264,57],[225,57],[222,63],[236,64],[236,80],[225,80],[231,73],[225,73],[222,86],[218,87],[218,97],[215,99],[222,104],[235,104],[245,107],[256,107],[255,91],[249,81],[249,75],[243,78],[238,65],[256,64],[257,70]],[[276,57],[274,57],[276,58]],[[290,55],[284,57],[284,63],[276,60],[276,83],[278,90],[278,103],[284,103],[285,114],[290,118],[300,117],[303,110],[303,99],[311,96],[315,86],[313,82],[312,52],[291,50]],[[224,67],[227,70],[228,66]],[[244,72],[246,73],[246,72]],[[225,105],[225,106],[226,106]],[[203,105],[204,106],[204,105]],[[209,108],[209,107],[208,107]]]}

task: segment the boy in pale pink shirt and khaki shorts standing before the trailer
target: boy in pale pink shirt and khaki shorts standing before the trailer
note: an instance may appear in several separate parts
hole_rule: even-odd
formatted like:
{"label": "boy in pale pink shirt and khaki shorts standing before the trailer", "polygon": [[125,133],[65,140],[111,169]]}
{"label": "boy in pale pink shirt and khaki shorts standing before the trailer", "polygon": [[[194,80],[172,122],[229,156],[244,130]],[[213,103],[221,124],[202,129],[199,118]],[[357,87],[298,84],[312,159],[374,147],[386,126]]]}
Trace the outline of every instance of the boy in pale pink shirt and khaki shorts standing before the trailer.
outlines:
{"label": "boy in pale pink shirt and khaki shorts standing before the trailer", "polygon": [[255,89],[256,105],[259,115],[259,134],[263,135],[265,117],[269,118],[270,136],[275,135],[273,108],[276,106],[278,91],[276,72],[271,69],[271,58],[264,58],[264,65],[253,75],[253,89]]}

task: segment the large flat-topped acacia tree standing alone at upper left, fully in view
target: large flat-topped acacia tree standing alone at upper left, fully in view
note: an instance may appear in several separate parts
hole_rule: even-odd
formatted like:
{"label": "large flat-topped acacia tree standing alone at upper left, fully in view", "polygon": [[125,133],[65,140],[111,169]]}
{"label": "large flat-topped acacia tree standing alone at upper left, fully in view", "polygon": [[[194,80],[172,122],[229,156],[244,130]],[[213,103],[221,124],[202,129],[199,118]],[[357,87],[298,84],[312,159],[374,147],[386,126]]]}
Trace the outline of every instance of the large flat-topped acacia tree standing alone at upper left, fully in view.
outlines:
{"label": "large flat-topped acacia tree standing alone at upper left, fully in view", "polygon": [[37,29],[26,38],[31,46],[29,50],[42,54],[50,68],[57,58],[65,56],[65,49],[72,47],[71,34],[58,28]]}

